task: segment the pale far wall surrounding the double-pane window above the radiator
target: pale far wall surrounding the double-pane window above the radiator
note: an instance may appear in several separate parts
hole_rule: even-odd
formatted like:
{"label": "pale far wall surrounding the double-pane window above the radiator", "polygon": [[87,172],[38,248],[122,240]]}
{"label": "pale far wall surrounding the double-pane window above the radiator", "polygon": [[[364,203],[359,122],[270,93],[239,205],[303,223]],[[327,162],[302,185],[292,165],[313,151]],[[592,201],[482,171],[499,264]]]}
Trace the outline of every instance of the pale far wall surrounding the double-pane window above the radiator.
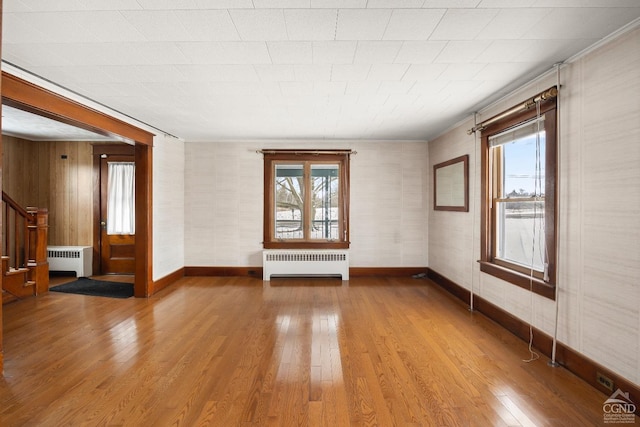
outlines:
{"label": "pale far wall surrounding the double-pane window above the radiator", "polygon": [[[263,148],[326,142],[185,144],[185,265],[262,265]],[[428,153],[425,142],[349,141],[351,265],[426,267]]]}

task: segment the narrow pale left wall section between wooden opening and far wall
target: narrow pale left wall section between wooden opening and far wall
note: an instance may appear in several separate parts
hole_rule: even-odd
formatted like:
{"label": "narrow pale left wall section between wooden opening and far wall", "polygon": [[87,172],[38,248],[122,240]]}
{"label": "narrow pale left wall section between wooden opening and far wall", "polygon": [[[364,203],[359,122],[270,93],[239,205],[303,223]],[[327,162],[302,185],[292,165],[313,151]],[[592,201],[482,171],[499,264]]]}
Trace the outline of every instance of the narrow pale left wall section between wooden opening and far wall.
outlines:
{"label": "narrow pale left wall section between wooden opening and far wall", "polygon": [[184,143],[153,139],[153,280],[184,266]]}

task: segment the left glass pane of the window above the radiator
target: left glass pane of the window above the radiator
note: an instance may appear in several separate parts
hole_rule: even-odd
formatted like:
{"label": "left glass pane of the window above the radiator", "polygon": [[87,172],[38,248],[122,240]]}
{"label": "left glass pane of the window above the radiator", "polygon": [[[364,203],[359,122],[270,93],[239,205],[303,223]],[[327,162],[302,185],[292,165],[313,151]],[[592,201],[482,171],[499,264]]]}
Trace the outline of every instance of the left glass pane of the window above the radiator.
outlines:
{"label": "left glass pane of the window above the radiator", "polygon": [[304,166],[276,165],[275,239],[304,238]]}

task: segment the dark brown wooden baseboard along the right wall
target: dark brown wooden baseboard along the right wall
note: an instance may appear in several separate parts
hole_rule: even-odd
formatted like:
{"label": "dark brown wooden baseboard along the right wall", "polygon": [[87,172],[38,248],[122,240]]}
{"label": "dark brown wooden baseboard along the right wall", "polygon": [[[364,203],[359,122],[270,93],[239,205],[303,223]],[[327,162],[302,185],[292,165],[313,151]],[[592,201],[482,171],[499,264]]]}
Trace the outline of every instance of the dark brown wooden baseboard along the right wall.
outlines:
{"label": "dark brown wooden baseboard along the right wall", "polygon": [[[458,285],[457,283],[449,280],[440,273],[427,269],[427,277],[434,283],[445,289],[447,292],[454,295],[461,300],[464,304],[469,305],[471,299],[471,293]],[[529,341],[529,324],[513,316],[504,309],[490,303],[486,299],[477,295],[473,296],[473,309],[478,311],[500,326],[507,329],[509,332],[522,339],[525,342]],[[547,357],[551,357],[551,349],[553,346],[553,338],[545,334],[541,330],[533,329],[533,346],[536,350],[540,351]],[[636,415],[640,415],[640,387],[626,378],[610,371],[597,362],[589,359],[585,355],[578,353],[570,347],[556,343],[556,362],[577,375],[583,381],[593,386],[597,390],[600,390],[606,396],[610,396],[613,391],[620,389],[625,393],[629,393],[629,397],[636,405]],[[601,373],[613,380],[613,391],[604,387],[596,380],[596,374]],[[603,400],[604,403],[604,400]]]}

